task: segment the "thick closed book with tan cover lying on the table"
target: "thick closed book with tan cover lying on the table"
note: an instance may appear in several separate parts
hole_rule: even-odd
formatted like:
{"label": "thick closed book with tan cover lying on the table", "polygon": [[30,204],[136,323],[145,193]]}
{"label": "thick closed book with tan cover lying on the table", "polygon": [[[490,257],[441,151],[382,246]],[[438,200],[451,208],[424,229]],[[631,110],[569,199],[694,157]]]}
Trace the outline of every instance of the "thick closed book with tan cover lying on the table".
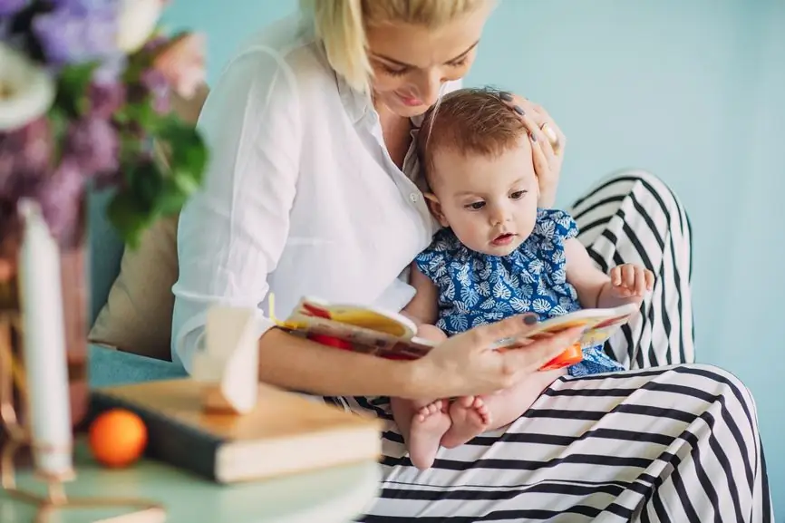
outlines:
{"label": "thick closed book with tan cover lying on the table", "polygon": [[145,422],[145,454],[219,483],[258,480],[381,455],[381,422],[266,384],[248,414],[208,412],[190,378],[95,389],[90,416],[113,408]]}

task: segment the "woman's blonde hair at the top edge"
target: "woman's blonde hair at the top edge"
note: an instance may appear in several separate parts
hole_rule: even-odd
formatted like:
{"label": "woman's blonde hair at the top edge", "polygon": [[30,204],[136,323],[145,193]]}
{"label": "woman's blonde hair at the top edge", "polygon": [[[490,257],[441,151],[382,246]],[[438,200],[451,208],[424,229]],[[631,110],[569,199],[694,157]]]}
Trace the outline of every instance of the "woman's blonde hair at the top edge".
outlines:
{"label": "woman's blonde hair at the top edge", "polygon": [[335,73],[359,92],[368,92],[373,69],[368,61],[365,29],[402,22],[440,27],[471,13],[490,0],[300,0],[313,19],[315,35],[325,45]]}

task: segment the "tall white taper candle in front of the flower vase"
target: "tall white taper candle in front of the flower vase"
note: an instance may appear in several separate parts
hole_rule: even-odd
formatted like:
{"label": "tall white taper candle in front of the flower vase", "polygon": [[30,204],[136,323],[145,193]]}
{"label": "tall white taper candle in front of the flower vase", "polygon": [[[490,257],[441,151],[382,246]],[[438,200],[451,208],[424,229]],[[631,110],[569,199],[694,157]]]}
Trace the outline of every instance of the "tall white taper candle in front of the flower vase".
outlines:
{"label": "tall white taper candle in front of the flower vase", "polygon": [[35,469],[44,477],[73,475],[73,434],[65,354],[60,252],[39,205],[20,202],[24,233],[19,254],[24,370]]}

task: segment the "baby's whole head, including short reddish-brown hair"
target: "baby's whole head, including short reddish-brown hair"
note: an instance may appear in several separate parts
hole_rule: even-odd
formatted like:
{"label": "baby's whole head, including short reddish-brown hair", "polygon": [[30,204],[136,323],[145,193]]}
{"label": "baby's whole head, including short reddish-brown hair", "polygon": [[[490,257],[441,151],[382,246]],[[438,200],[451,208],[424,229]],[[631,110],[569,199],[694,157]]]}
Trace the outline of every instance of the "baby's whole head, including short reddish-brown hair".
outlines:
{"label": "baby's whole head, including short reddish-brown hair", "polygon": [[428,111],[417,140],[431,212],[472,250],[506,256],[537,220],[528,131],[489,89],[461,89]]}

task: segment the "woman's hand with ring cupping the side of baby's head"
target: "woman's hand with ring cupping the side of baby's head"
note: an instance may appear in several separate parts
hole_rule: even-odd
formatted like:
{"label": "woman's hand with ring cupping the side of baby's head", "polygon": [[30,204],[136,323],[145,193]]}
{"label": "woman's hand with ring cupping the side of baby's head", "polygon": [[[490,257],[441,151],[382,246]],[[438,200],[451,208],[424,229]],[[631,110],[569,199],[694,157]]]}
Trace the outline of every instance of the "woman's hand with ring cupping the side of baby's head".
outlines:
{"label": "woman's hand with ring cupping the side of baby's head", "polygon": [[510,92],[501,92],[499,98],[518,114],[528,129],[534,170],[539,183],[539,206],[553,207],[567,138],[548,112],[538,104]]}

